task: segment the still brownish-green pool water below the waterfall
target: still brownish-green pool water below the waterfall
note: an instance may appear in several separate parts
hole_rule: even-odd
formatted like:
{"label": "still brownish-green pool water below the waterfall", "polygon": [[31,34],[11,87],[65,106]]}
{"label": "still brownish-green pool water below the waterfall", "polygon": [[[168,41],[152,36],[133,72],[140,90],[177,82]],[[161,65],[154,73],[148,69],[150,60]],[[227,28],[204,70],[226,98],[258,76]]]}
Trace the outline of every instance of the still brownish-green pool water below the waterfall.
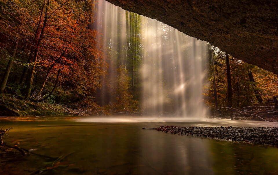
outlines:
{"label": "still brownish-green pool water below the waterfall", "polygon": [[[1,127],[13,128],[8,133],[10,137],[6,137],[7,144],[20,142],[18,146],[22,148],[36,148],[35,153],[52,157],[72,153],[63,159],[63,163],[70,166],[55,168],[46,174],[278,174],[276,147],[142,129],[165,125],[277,126],[277,123],[215,119],[146,122],[145,118],[131,117],[24,120],[31,121],[0,118]],[[0,164],[0,174],[30,174],[45,167],[46,161],[25,156]]]}

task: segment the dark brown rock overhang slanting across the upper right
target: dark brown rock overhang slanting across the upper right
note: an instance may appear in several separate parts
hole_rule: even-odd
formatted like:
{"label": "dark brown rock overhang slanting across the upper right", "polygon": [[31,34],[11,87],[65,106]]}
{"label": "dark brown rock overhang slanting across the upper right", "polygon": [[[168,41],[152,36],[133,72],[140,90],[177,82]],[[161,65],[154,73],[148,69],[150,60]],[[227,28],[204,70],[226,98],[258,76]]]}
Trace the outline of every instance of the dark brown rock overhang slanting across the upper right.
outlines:
{"label": "dark brown rock overhang slanting across the upper right", "polygon": [[107,0],[278,74],[278,1]]}

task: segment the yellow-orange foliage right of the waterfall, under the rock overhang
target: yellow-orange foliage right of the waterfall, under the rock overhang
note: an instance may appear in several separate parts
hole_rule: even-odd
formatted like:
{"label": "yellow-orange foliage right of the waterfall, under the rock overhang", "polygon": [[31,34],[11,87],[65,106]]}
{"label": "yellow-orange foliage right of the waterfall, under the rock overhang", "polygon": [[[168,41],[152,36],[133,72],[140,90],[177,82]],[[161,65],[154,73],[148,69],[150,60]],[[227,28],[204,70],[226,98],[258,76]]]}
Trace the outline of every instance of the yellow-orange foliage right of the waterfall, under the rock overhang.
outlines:
{"label": "yellow-orange foliage right of the waterfall, under the rock overhang", "polygon": [[[220,49],[212,46],[213,57],[215,62],[216,89],[219,107],[227,106],[227,74],[225,53]],[[272,96],[278,95],[277,75],[268,72],[257,66],[247,64],[232,56],[230,59],[231,79],[232,79],[232,102],[233,107],[245,107],[258,105],[259,102],[255,97],[254,90],[258,90],[263,98],[263,103],[269,104],[272,101]],[[212,69],[212,66],[211,66]],[[253,72],[255,79],[250,82],[248,71]],[[208,97],[206,103],[209,106],[214,106],[213,97],[213,73],[210,71],[209,90],[205,93]],[[264,104],[260,104],[264,105]]]}

